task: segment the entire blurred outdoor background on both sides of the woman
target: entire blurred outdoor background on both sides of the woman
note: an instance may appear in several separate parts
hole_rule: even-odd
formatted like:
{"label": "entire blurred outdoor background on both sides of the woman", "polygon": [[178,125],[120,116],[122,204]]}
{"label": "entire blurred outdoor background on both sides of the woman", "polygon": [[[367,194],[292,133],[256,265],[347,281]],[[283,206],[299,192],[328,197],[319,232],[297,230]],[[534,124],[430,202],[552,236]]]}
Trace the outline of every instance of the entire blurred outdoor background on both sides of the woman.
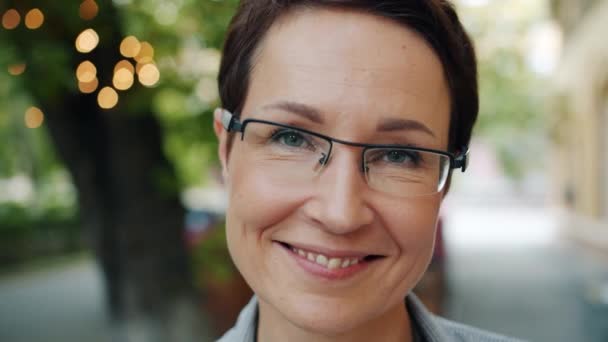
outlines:
{"label": "entire blurred outdoor background on both sides of the woman", "polygon": [[[212,340],[250,292],[211,130],[236,0],[0,1],[0,341]],[[608,1],[459,0],[471,167],[416,291],[532,341],[608,341]]]}

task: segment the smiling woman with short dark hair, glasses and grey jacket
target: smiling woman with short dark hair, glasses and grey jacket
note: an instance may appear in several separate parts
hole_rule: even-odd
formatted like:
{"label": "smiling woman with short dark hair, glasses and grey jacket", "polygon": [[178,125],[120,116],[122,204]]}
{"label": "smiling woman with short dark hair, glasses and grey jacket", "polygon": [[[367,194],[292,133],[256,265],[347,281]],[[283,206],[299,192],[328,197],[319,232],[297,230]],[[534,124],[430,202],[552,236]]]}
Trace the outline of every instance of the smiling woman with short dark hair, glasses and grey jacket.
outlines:
{"label": "smiling woman with short dark hair, glasses and grey jacket", "polygon": [[219,87],[228,247],[256,294],[221,341],[506,340],[410,294],[478,111],[449,3],[244,0]]}

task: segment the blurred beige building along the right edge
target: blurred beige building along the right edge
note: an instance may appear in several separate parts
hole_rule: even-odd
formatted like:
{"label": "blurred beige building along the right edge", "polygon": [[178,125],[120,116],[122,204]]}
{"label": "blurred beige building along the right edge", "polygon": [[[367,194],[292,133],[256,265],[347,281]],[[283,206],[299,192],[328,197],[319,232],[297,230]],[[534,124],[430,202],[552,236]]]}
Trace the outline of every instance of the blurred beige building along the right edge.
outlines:
{"label": "blurred beige building along the right edge", "polygon": [[549,108],[554,190],[576,235],[608,250],[608,0],[551,5],[563,32]]}

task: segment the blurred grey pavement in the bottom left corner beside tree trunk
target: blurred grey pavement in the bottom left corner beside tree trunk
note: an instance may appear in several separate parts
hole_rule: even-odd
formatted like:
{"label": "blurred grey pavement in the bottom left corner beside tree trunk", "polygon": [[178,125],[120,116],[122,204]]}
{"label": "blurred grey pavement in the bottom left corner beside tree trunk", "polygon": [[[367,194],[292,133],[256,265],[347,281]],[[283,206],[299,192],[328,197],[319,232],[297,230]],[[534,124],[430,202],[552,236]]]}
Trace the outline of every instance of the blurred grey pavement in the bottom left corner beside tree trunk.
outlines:
{"label": "blurred grey pavement in the bottom left corner beside tree trunk", "polygon": [[0,278],[0,341],[109,341],[100,275],[81,259]]}

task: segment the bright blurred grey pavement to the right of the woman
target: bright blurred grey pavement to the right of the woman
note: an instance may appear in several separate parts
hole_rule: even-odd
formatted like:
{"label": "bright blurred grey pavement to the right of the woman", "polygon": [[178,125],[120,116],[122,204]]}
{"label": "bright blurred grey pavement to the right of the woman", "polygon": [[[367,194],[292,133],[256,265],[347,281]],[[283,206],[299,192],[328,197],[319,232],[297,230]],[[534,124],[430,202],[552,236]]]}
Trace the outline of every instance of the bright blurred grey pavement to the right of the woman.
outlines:
{"label": "bright blurred grey pavement to the right of the woman", "polygon": [[[452,207],[445,215],[445,316],[530,341],[608,341],[606,256],[566,241],[535,205]],[[593,291],[602,289],[600,298]]]}

